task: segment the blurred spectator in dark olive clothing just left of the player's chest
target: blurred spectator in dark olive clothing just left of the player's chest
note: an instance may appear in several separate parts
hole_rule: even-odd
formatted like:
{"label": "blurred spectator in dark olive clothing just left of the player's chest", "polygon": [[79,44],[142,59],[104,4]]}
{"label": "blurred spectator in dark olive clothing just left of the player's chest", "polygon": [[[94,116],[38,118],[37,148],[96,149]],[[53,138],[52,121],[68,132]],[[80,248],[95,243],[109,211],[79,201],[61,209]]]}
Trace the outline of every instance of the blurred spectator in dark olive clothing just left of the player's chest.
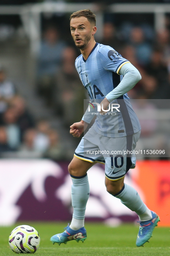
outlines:
{"label": "blurred spectator in dark olive clothing just left of the player's chest", "polygon": [[87,98],[75,69],[76,57],[76,51],[73,47],[64,49],[62,66],[56,77],[58,87],[56,86],[54,92],[54,102],[58,103],[56,109],[58,114],[59,112],[62,114],[64,124],[68,127],[77,120],[81,120],[83,99]]}

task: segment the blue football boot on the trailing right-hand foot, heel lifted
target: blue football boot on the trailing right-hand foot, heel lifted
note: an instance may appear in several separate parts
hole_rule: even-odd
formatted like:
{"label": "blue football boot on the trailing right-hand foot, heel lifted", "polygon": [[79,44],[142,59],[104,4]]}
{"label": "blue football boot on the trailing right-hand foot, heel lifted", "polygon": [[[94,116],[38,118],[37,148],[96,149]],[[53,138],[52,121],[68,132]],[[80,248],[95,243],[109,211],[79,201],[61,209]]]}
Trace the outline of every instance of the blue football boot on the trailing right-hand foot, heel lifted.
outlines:
{"label": "blue football boot on the trailing right-hand foot, heel lifted", "polygon": [[160,221],[159,216],[152,212],[152,219],[146,221],[140,221],[139,233],[137,235],[136,246],[143,246],[144,243],[149,242],[152,237],[152,232],[154,227],[158,226],[158,221]]}

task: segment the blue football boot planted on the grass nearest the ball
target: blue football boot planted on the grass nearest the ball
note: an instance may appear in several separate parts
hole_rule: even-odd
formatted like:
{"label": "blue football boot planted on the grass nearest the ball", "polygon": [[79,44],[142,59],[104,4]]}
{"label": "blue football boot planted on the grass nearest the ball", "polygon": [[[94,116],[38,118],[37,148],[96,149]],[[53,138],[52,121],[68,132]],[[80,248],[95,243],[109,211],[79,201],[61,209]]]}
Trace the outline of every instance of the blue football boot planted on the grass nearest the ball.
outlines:
{"label": "blue football boot planted on the grass nearest the ball", "polygon": [[73,230],[70,229],[69,227],[69,223],[68,226],[65,227],[64,229],[66,229],[63,233],[59,233],[56,235],[53,235],[50,238],[50,241],[55,244],[66,244],[68,241],[71,240],[76,240],[77,242],[82,241],[84,242],[84,240],[87,238],[87,233],[84,227],[82,227],[81,229],[78,230]]}

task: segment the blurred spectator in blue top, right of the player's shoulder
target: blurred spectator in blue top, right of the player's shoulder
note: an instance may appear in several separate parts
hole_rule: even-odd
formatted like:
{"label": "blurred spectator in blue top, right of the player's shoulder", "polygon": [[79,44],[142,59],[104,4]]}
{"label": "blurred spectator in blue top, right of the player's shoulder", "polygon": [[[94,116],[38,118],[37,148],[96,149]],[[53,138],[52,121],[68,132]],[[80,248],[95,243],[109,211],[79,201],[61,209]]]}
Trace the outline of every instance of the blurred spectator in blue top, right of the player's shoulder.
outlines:
{"label": "blurred spectator in blue top, right of the player's shoulder", "polygon": [[130,44],[135,48],[137,62],[145,66],[150,61],[151,45],[146,42],[144,31],[141,27],[133,27],[130,33]]}

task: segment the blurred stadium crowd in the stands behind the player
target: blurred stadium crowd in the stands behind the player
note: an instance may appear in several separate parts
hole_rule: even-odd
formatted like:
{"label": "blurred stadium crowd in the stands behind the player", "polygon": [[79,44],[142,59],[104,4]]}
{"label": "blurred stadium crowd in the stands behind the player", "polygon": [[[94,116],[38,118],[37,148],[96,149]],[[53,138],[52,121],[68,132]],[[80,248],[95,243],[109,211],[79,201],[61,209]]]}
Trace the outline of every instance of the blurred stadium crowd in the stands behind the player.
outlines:
{"label": "blurred stadium crowd in the stands behind the player", "polygon": [[[120,22],[115,21],[114,15],[106,13],[104,17],[103,37],[98,42],[113,47],[142,75],[142,80],[128,93],[131,99],[140,99],[140,104],[135,104],[134,108],[139,109],[143,104],[145,109],[156,109],[156,104],[146,100],[170,99],[170,16],[166,16],[165,29],[157,33],[150,19],[136,20],[136,15],[131,15],[130,21]],[[62,33],[64,25],[68,28]],[[16,36],[15,30],[15,26],[5,24],[0,17],[0,44]],[[60,129],[51,126],[50,119],[43,114],[35,117],[26,97],[8,75],[8,66],[1,62],[0,157],[70,158],[67,140],[71,141],[72,151],[75,142],[62,131],[69,133],[69,126],[81,119],[83,99],[88,97],[74,66],[79,54],[69,33],[68,16],[42,18],[41,47],[35,58],[34,93],[53,111],[53,117],[60,120]],[[141,125],[141,149],[167,149],[164,157],[169,157],[169,131],[165,128],[164,136],[158,136],[157,120],[141,120]]]}

